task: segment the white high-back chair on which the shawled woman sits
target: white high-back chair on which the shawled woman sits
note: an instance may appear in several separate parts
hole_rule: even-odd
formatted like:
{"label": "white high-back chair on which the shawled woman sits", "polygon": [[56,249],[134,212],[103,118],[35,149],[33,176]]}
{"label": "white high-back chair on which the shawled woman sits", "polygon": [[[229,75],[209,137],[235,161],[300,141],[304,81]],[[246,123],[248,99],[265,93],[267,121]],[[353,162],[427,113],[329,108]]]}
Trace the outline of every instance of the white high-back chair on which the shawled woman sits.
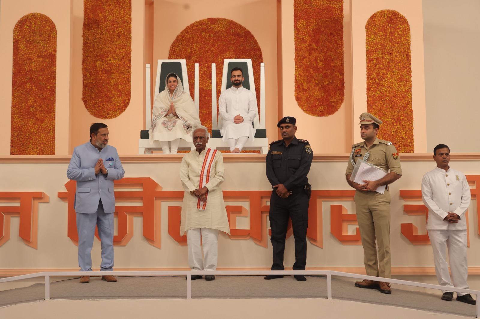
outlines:
{"label": "white high-back chair on which the shawled woman sits", "polygon": [[[165,78],[169,73],[175,73],[180,77],[180,80],[183,84],[183,91],[187,94],[190,94],[190,87],[188,83],[188,75],[187,75],[187,61],[185,59],[181,60],[158,60],[158,65],[156,68],[156,80],[155,80],[155,94],[160,93],[165,89]],[[197,114],[199,114],[199,100],[198,100],[198,63],[195,63],[195,107],[197,110]],[[151,93],[150,93],[150,65],[146,65],[146,99],[145,99],[145,130],[140,132],[140,139],[138,141],[139,145],[139,154],[150,154],[152,151],[159,151],[162,150],[159,141],[154,141],[150,143],[150,139],[148,136],[148,129],[151,126],[152,122],[152,102],[151,102]],[[193,146],[192,141],[185,141],[180,139],[179,150],[191,150],[195,148]]]}

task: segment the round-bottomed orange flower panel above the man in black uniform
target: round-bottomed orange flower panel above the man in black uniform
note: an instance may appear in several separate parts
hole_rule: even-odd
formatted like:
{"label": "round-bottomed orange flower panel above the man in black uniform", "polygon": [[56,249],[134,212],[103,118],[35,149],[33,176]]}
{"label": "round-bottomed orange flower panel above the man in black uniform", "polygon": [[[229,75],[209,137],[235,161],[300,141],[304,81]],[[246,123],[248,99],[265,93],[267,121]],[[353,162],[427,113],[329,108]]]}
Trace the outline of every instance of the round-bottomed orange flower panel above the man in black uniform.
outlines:
{"label": "round-bottomed orange flower panel above the man in black uniform", "polygon": [[295,100],[328,116],[343,103],[343,0],[294,0]]}

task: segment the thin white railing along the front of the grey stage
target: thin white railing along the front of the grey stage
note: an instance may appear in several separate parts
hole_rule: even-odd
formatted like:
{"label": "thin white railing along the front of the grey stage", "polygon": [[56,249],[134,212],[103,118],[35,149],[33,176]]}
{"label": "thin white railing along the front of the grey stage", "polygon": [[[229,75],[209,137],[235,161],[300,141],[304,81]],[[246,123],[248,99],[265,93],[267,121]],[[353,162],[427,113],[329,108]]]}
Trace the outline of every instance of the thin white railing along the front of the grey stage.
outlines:
{"label": "thin white railing along the front of the grey stage", "polygon": [[[50,277],[51,276],[101,276],[101,275],[116,275],[116,276],[187,276],[187,299],[192,299],[192,275],[229,275],[229,276],[238,276],[238,275],[267,275],[267,274],[281,274],[281,275],[295,275],[295,274],[304,274],[304,275],[326,275],[327,276],[327,298],[332,299],[332,276],[342,276],[349,278],[360,278],[360,279],[369,279],[374,281],[384,281],[391,284],[398,285],[408,285],[414,287],[423,287],[430,289],[439,289],[445,290],[445,286],[440,285],[431,285],[416,283],[413,281],[392,279],[392,278],[382,278],[382,277],[373,277],[367,275],[359,275],[356,273],[342,273],[330,270],[216,270],[216,271],[190,271],[190,270],[181,270],[181,271],[124,271],[124,272],[43,272],[43,273],[30,273],[21,276],[7,277],[0,279],[0,284],[10,281],[36,278],[36,277],[45,277],[45,300],[50,300]],[[480,295],[480,291],[472,289],[462,289],[455,287],[448,287],[448,291],[454,291],[464,294],[475,295],[475,299]],[[480,302],[476,305],[476,318],[479,318],[480,314]]]}

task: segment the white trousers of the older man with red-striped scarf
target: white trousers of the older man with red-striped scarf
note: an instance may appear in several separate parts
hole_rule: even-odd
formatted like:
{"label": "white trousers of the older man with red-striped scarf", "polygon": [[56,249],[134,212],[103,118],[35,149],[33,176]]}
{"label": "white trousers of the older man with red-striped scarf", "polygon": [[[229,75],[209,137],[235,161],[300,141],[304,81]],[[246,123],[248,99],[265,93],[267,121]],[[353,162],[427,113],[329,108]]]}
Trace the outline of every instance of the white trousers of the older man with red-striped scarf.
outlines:
{"label": "white trousers of the older man with red-striped scarf", "polygon": [[[192,270],[216,270],[218,260],[218,229],[192,228],[187,230],[188,263]],[[202,259],[202,247],[204,259]]]}

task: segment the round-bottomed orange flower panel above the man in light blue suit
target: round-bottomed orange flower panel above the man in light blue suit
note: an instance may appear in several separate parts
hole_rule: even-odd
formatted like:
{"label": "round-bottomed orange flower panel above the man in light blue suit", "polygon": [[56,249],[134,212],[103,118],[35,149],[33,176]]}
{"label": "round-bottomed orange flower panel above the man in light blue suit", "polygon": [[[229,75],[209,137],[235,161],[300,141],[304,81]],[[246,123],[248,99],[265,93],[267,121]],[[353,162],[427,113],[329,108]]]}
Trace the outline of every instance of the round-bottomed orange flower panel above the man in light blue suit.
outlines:
{"label": "round-bottomed orange flower panel above the man in light blue suit", "polygon": [[130,103],[132,0],[84,0],[83,96],[97,118],[122,114]]}

